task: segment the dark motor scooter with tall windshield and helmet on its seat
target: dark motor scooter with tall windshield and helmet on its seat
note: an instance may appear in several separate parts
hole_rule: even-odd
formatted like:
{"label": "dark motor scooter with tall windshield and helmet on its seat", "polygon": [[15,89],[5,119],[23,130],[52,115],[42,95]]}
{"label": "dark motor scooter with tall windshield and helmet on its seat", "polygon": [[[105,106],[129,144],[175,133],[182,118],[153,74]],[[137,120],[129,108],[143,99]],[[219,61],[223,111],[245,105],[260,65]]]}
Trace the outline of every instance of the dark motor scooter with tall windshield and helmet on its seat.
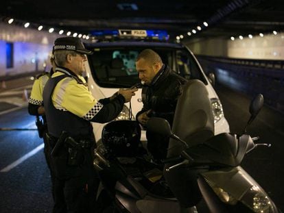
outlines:
{"label": "dark motor scooter with tall windshield and helmet on its seat", "polygon": [[[260,144],[246,134],[214,136],[211,103],[198,80],[190,80],[178,99],[174,123],[150,118],[147,128],[168,136],[164,166],[147,159],[136,121],[113,121],[102,133],[94,166],[104,212],[279,212],[257,182],[239,166]],[[251,123],[263,104],[250,105]],[[268,146],[268,145],[267,145]],[[201,200],[205,211],[197,209]]]}

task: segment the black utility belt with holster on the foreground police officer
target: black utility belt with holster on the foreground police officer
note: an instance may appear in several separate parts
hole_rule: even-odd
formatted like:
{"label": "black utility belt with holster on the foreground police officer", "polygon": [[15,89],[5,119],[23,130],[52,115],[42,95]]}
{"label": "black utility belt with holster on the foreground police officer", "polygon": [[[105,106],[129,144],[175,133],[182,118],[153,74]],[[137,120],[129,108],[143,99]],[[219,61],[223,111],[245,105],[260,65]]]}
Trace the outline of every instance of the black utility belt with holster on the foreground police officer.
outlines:
{"label": "black utility belt with holster on the foreground police officer", "polygon": [[93,147],[92,140],[75,140],[66,131],[62,131],[59,138],[47,134],[51,145],[51,159],[66,155],[68,166],[79,166],[84,163],[84,155]]}

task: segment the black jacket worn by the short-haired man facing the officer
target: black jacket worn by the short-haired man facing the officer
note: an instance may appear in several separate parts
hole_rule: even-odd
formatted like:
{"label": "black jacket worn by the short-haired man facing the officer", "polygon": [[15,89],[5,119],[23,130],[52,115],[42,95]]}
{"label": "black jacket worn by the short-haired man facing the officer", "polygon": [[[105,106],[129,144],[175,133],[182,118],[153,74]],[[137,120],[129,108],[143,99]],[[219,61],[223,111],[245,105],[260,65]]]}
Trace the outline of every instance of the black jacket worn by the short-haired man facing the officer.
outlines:
{"label": "black jacket worn by the short-haired man facing the officer", "polygon": [[182,85],[186,82],[187,79],[171,71],[169,66],[163,65],[151,84],[143,86],[143,108],[137,113],[136,118],[147,110],[153,110],[152,116],[165,118],[171,125]]}

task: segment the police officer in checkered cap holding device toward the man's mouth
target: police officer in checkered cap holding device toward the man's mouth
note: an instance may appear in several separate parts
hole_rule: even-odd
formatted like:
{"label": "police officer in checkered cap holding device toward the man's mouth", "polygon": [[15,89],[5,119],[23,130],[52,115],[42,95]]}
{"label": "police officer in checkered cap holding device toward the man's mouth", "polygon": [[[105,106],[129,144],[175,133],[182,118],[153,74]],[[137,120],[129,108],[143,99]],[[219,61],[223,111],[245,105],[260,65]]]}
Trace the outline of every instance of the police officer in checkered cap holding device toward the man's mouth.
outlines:
{"label": "police officer in checkered cap holding device toward the man's mouth", "polygon": [[80,38],[54,42],[56,72],[43,91],[55,175],[54,212],[95,212],[99,181],[93,168],[91,121],[112,121],[137,91],[121,89],[110,98],[95,99],[82,77],[86,55],[91,53]]}

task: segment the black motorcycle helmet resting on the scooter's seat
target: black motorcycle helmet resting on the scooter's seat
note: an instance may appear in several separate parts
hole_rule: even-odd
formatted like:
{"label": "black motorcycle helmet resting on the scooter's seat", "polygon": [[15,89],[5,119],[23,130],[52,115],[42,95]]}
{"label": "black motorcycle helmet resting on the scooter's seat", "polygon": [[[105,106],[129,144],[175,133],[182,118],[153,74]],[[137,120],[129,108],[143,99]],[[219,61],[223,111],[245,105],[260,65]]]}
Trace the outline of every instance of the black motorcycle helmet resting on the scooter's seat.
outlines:
{"label": "black motorcycle helmet resting on the scooter's seat", "polygon": [[102,130],[102,143],[110,155],[132,157],[140,147],[141,127],[137,121],[113,121]]}

